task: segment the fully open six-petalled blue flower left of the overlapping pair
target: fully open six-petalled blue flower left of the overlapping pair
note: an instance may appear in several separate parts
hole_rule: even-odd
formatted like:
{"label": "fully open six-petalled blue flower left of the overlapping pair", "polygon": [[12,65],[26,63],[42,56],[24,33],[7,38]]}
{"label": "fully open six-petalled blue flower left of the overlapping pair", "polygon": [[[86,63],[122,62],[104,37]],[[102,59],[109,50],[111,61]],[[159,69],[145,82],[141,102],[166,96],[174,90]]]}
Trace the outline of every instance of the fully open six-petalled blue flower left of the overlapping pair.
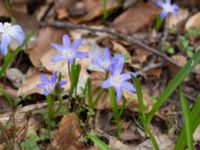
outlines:
{"label": "fully open six-petalled blue flower left of the overlapping pair", "polygon": [[81,45],[82,40],[77,40],[71,45],[68,35],[63,36],[63,45],[52,43],[51,46],[58,50],[59,54],[55,55],[51,60],[53,62],[59,60],[68,60],[72,65],[75,58],[87,58],[87,53],[77,51]]}

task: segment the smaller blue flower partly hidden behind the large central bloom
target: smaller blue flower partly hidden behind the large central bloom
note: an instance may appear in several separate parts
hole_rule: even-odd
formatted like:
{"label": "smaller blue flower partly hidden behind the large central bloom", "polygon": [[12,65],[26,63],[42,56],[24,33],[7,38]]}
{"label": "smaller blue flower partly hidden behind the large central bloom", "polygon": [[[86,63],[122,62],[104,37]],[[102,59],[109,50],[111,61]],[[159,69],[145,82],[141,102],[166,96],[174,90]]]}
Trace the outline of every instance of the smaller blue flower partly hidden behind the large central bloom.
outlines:
{"label": "smaller blue flower partly hidden behind the large central bloom", "polygon": [[109,48],[105,48],[104,54],[100,56],[100,54],[96,52],[92,52],[92,63],[99,66],[101,69],[103,69],[105,72],[110,69],[111,65],[111,55]]}

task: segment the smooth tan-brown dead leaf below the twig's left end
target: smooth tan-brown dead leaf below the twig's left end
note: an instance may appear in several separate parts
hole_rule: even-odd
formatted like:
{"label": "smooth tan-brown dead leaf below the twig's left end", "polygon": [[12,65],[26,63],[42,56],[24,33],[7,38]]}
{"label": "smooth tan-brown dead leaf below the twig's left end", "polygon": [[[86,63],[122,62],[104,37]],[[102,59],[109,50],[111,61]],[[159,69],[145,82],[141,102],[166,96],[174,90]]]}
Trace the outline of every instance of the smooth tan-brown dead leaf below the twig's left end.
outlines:
{"label": "smooth tan-brown dead leaf below the twig's left end", "polygon": [[32,64],[34,65],[34,67],[36,68],[42,67],[41,58],[46,52],[50,51],[51,49],[50,44],[52,42],[61,43],[62,36],[65,33],[67,33],[66,30],[55,29],[55,28],[50,28],[50,27],[40,29],[37,36],[36,44],[29,52],[29,58]]}

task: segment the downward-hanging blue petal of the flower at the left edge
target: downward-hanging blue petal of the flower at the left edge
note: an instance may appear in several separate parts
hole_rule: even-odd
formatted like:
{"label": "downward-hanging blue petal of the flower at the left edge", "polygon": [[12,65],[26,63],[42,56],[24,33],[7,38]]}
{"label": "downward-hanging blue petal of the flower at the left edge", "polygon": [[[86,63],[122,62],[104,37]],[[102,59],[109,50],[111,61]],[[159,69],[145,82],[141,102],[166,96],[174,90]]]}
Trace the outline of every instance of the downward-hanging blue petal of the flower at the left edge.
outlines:
{"label": "downward-hanging blue petal of the flower at the left edge", "polygon": [[1,53],[3,56],[5,56],[8,52],[8,45],[11,42],[11,38],[7,33],[4,33],[2,36],[2,41],[1,41]]}

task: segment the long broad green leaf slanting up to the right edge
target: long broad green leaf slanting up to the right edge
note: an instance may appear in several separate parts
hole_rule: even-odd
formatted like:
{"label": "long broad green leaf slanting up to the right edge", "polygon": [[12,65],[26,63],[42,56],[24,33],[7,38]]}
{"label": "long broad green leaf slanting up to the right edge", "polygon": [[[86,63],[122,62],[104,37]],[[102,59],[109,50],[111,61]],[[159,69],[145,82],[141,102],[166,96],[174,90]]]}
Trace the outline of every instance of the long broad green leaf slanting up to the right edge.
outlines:
{"label": "long broad green leaf slanting up to the right edge", "polygon": [[160,106],[166,102],[168,97],[177,89],[177,87],[181,84],[181,82],[192,72],[193,68],[200,61],[200,50],[198,50],[194,56],[185,64],[185,66],[179,71],[179,73],[169,82],[168,86],[164,89],[162,94],[160,95],[158,101],[153,106],[151,112],[148,115],[147,123],[149,124],[160,108]]}

